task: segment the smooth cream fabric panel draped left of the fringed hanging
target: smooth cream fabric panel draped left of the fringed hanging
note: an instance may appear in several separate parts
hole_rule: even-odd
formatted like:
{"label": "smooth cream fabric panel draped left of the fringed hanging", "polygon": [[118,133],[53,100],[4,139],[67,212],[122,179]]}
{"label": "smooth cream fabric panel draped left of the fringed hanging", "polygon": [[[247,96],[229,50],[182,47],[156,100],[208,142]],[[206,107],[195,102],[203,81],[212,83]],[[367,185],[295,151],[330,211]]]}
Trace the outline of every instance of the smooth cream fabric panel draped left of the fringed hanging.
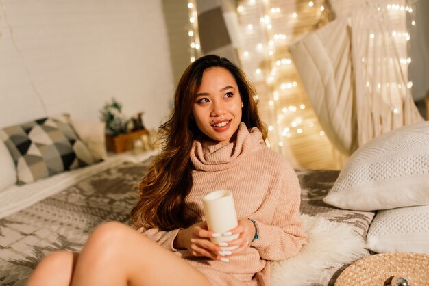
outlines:
{"label": "smooth cream fabric panel draped left of the fringed hanging", "polygon": [[326,135],[342,153],[354,151],[356,104],[347,18],[311,32],[289,51]]}

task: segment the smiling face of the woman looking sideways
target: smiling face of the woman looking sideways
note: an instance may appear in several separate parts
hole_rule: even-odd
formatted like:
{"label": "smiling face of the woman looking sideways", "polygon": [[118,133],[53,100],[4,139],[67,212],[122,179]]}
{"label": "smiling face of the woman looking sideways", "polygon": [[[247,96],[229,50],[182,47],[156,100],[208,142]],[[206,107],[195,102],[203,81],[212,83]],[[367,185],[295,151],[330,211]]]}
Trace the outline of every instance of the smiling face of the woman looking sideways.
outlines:
{"label": "smiling face of the woman looking sideways", "polygon": [[192,107],[193,118],[202,133],[220,144],[230,142],[240,125],[242,107],[237,83],[227,69],[204,70]]}

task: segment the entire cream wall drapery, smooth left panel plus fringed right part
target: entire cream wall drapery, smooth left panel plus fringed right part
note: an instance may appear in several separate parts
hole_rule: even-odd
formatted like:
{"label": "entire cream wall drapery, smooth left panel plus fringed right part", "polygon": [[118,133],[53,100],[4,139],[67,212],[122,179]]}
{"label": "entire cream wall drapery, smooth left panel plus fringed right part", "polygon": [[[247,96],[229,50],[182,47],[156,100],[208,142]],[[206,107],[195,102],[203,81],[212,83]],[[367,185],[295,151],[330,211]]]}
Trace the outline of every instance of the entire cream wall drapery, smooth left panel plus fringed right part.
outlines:
{"label": "entire cream wall drapery, smooth left panel plus fringed right part", "polygon": [[[332,1],[336,18],[289,46],[315,112],[345,155],[424,120],[408,88],[387,1]],[[404,16],[405,17],[405,16]]]}

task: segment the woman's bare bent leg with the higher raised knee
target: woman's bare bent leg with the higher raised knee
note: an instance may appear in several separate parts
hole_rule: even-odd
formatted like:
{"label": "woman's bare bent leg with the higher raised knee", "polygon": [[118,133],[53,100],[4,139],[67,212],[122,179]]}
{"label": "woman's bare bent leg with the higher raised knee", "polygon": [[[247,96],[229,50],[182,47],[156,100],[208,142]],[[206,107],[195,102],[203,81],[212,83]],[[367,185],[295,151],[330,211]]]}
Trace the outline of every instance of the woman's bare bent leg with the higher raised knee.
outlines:
{"label": "woman's bare bent leg with the higher raised knee", "polygon": [[[73,286],[210,285],[207,278],[186,261],[117,222],[95,229],[72,273]],[[29,286],[33,285],[37,284]]]}

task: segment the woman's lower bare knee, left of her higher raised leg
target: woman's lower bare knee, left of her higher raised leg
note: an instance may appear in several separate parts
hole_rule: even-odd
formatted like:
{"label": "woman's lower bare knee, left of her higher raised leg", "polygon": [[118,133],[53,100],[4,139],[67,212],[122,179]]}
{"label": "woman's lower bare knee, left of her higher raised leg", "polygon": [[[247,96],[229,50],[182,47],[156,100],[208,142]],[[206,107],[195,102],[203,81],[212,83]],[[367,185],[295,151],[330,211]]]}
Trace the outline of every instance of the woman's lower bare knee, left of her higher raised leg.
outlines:
{"label": "woman's lower bare knee, left of her higher raised leg", "polygon": [[58,251],[53,252],[43,259],[27,286],[69,286],[78,253]]}

